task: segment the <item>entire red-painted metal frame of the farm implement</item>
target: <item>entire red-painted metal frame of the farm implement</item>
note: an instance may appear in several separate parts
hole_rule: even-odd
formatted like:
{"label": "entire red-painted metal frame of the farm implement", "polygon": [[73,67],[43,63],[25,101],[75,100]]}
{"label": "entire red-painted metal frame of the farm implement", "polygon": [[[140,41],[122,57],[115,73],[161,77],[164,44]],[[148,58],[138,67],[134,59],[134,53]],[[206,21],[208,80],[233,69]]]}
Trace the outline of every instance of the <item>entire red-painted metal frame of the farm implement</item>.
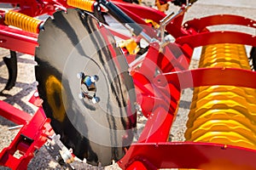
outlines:
{"label": "entire red-painted metal frame of the farm implement", "polygon": [[[9,3],[9,1],[1,0],[1,3]],[[11,3],[19,4],[18,11],[32,17],[40,14],[52,14],[55,12],[55,8],[67,8],[64,0],[15,0]],[[146,25],[143,20],[145,18],[159,23],[166,16],[153,8],[115,1],[114,3],[138,24]],[[1,11],[0,14],[3,16],[4,11]],[[34,48],[38,46],[37,34],[5,26],[3,17],[0,19],[0,23],[0,47],[34,54]],[[229,168],[240,166],[243,169],[255,169],[256,150],[224,144],[166,143],[183,88],[216,84],[256,88],[256,74],[253,71],[228,68],[188,70],[195,47],[223,42],[256,46],[256,37],[253,35],[234,31],[211,32],[208,31],[207,26],[232,24],[256,28],[255,20],[224,14],[190,20],[183,26],[182,23],[183,14],[180,14],[175,20],[172,20],[170,25],[166,26],[166,31],[176,38],[175,43],[170,43],[164,48],[163,53],[159,53],[159,43],[151,42],[140,69],[131,70],[137,91],[137,101],[142,107],[143,114],[148,117],[148,122],[138,143],[131,145],[125,156],[119,161],[119,166],[124,169],[204,168],[203,166],[214,167],[222,163],[230,165]],[[148,26],[145,26],[144,29],[149,36],[156,37],[155,32],[148,29]],[[129,38],[114,30],[111,31],[115,36]],[[172,53],[172,48],[179,48],[183,54],[175,56]],[[131,56],[128,55],[127,60],[131,62],[129,57]],[[154,76],[155,69],[162,71],[157,77]],[[219,78],[220,75],[222,78]],[[34,151],[40,148],[52,133],[49,119],[40,108],[42,100],[32,99],[32,102],[39,106],[39,110],[34,116],[0,101],[1,116],[17,124],[24,124],[9,147],[2,150],[1,165],[18,169],[26,168]],[[13,156],[16,150],[20,150],[23,155],[20,159]]]}

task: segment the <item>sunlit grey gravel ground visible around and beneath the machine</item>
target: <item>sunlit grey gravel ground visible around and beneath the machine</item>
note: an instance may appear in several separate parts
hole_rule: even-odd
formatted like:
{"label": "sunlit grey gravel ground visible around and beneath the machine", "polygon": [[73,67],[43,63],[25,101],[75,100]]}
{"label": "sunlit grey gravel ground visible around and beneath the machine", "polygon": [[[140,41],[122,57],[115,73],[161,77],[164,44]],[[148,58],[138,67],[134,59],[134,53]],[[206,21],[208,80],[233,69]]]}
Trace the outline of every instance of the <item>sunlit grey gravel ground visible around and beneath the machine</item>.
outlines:
{"label": "sunlit grey gravel ground visible around and beneath the machine", "polygon": [[[214,5],[210,5],[211,3],[207,2],[210,1],[205,0],[204,3],[200,3],[200,1],[198,3],[195,3],[193,7],[189,9],[189,13],[186,15],[186,20],[198,18],[209,14],[239,14],[256,20],[255,1],[253,1],[251,7],[239,7],[237,5],[236,7],[233,7],[232,5],[221,5],[219,3],[214,3]],[[177,8],[170,6],[169,10],[177,10]],[[220,28],[226,29],[230,28],[230,26],[222,26]],[[236,27],[235,29],[255,34],[255,31],[253,31],[252,29],[245,29],[244,27]],[[195,59],[192,60],[190,68],[196,68],[198,62],[196,60],[196,56],[198,56],[199,54],[200,50],[196,50]],[[3,57],[8,55],[8,50],[0,48],[0,90],[4,88],[4,84],[5,82],[7,82],[8,78],[7,69],[3,63]],[[15,88],[11,89],[10,91],[4,91],[3,94],[0,95],[0,99],[8,102],[11,105],[14,105],[22,111],[33,114],[37,108],[29,104],[27,101],[31,98],[33,92],[36,89],[35,77],[33,76],[35,63],[33,61],[33,57],[30,55],[18,55],[18,79]],[[189,105],[191,103],[192,93],[193,91],[191,89],[186,89],[183,91],[183,95],[180,100],[179,111],[177,112],[176,122],[174,122],[172,126],[172,141],[184,140],[183,133],[186,129],[185,123],[187,121],[187,114],[189,112]],[[140,132],[143,129],[143,123],[146,122],[146,119],[143,116],[138,116],[138,122],[138,131]],[[15,134],[18,132],[18,130],[9,130],[9,127],[14,126],[15,124],[13,122],[9,122],[8,120],[0,116],[0,150],[3,150],[3,148],[8,146],[11,140],[14,139]],[[90,167],[87,166],[85,163],[79,162],[73,163],[73,167],[76,167],[77,169],[103,169],[103,167]],[[0,168],[3,169],[4,167]],[[116,164],[110,167],[105,167],[105,169],[118,168],[119,167]],[[28,169],[65,169],[65,167],[61,167],[54,160],[54,158],[49,155],[46,147],[42,147],[38,151],[38,154],[30,162]]]}

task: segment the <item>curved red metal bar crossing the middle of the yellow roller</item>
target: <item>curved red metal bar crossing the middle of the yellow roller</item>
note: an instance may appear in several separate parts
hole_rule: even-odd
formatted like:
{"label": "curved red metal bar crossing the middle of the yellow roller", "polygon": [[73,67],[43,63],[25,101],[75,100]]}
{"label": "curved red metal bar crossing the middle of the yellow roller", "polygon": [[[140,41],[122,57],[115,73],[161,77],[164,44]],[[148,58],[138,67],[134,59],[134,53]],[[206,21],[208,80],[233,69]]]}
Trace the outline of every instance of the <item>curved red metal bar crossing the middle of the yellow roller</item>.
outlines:
{"label": "curved red metal bar crossing the middle of the yellow roller", "polygon": [[245,88],[256,88],[256,72],[236,68],[200,68],[191,71],[177,71],[160,75],[155,78],[181,88],[200,86],[228,85]]}

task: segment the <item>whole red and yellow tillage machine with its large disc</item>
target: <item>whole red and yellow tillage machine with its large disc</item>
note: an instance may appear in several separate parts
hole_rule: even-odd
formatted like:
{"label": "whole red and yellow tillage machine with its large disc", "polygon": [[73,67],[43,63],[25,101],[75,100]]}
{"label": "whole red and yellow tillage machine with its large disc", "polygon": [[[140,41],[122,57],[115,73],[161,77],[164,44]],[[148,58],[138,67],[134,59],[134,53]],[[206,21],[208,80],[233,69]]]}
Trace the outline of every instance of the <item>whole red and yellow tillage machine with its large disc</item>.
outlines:
{"label": "whole red and yellow tillage machine with its large disc", "polygon": [[[256,20],[216,14],[184,21],[195,1],[165,14],[137,2],[1,0],[0,47],[15,86],[16,52],[34,56],[37,91],[30,115],[0,101],[20,126],[0,165],[26,169],[54,136],[74,158],[122,169],[256,169],[256,37],[212,26],[256,29]],[[167,5],[168,6],[168,5]],[[164,8],[164,9],[163,9]],[[246,48],[251,48],[248,56]],[[197,69],[189,69],[201,47]],[[193,88],[185,141],[169,140],[182,92]],[[147,119],[137,141],[137,115]],[[19,152],[20,157],[15,156]]]}

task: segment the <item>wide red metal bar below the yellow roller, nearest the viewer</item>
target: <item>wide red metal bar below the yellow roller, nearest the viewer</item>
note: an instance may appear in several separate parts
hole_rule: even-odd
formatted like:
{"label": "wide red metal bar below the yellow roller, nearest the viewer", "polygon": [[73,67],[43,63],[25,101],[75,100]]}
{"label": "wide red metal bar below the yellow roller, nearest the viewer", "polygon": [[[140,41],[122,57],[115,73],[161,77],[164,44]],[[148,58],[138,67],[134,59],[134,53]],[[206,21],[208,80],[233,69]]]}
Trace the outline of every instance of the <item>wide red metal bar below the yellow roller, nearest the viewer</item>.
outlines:
{"label": "wide red metal bar below the yellow roller, nearest the viewer", "polygon": [[224,144],[191,142],[138,143],[131,145],[125,157],[119,161],[119,166],[123,169],[198,168],[253,170],[256,168],[255,159],[255,150]]}

